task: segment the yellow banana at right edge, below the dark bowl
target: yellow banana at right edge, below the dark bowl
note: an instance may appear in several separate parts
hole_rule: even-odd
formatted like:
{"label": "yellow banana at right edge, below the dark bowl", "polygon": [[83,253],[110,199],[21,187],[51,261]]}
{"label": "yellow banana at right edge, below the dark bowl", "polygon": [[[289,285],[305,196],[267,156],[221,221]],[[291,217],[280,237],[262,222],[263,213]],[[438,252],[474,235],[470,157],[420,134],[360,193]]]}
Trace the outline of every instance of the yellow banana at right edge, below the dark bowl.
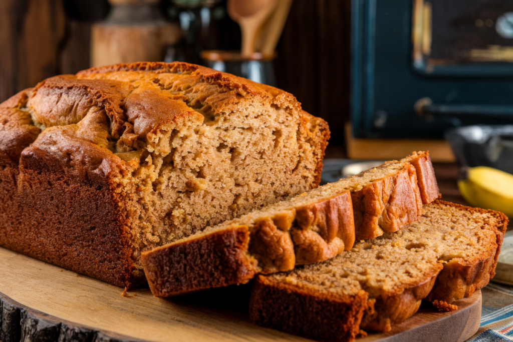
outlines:
{"label": "yellow banana at right edge, below the dark bowl", "polygon": [[469,168],[458,189],[474,207],[502,211],[513,217],[513,175],[487,166]]}

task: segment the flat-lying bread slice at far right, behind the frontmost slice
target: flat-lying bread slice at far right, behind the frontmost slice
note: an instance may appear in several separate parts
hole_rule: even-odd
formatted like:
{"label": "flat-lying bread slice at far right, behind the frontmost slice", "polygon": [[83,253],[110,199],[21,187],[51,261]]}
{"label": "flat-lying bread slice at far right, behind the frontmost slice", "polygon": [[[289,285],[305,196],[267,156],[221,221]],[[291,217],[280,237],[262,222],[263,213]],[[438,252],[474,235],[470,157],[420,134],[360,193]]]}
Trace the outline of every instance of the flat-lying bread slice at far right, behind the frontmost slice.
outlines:
{"label": "flat-lying bread slice at far right, behind the frontmost slice", "polygon": [[435,251],[444,268],[426,299],[451,304],[483,288],[495,275],[507,223],[501,212],[438,200],[424,206],[417,222],[373,244]]}

